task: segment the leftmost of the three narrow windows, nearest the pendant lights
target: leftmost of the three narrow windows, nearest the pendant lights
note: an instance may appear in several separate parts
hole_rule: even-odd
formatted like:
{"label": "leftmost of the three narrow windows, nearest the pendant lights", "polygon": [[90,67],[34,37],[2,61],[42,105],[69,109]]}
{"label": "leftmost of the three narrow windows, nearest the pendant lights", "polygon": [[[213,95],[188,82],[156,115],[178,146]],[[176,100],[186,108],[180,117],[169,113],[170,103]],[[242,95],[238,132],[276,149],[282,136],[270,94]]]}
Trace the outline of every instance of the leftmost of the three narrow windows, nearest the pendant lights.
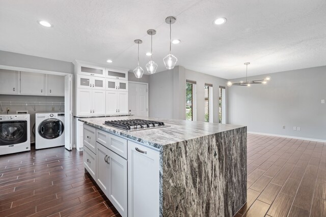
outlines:
{"label": "leftmost of the three narrow windows, nearest the pendant lights", "polygon": [[197,120],[196,119],[196,81],[186,80],[186,91],[185,91],[185,119],[186,120]]}

